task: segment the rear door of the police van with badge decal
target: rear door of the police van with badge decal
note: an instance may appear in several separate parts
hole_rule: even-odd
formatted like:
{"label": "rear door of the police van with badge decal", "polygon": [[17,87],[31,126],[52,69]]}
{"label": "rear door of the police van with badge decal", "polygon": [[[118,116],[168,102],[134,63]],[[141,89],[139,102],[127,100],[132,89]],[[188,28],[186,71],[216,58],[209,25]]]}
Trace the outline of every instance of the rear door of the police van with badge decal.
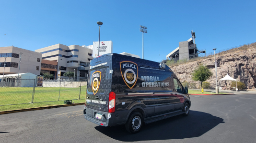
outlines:
{"label": "rear door of the police van with badge decal", "polygon": [[[108,97],[111,92],[111,62],[106,61],[105,58],[99,57],[93,59],[90,63],[90,70],[88,72],[87,93],[86,93],[86,107],[100,112],[108,112]],[[89,116],[90,111],[87,111]]]}

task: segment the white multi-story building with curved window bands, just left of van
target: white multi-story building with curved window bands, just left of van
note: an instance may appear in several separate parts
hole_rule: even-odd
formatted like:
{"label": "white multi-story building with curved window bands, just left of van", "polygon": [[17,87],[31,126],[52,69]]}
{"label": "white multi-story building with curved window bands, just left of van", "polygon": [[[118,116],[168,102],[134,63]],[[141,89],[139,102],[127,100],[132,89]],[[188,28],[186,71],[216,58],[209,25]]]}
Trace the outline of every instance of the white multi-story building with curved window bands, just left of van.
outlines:
{"label": "white multi-story building with curved window bands, just left of van", "polygon": [[[37,49],[36,52],[42,53],[42,59],[58,62],[58,71],[61,71],[61,77],[65,72],[74,72],[78,75],[77,79],[86,79],[89,70],[90,61],[93,60],[92,46],[79,46],[56,44],[45,48]],[[79,70],[79,71],[78,71]]]}

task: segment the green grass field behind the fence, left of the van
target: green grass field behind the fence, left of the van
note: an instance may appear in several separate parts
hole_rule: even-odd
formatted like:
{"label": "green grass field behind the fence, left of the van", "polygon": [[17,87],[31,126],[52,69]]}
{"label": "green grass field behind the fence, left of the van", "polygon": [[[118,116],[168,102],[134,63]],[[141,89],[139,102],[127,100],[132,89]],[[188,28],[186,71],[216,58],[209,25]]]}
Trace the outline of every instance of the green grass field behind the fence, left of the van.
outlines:
{"label": "green grass field behind the fence, left of the van", "polygon": [[[35,88],[35,95],[33,104],[32,94],[33,87],[4,87],[0,88],[0,111],[26,109],[35,107],[44,107],[51,105],[64,104],[64,100],[72,100],[75,103],[85,102],[86,86],[81,87],[81,100],[79,99],[79,88],[59,88],[57,87],[37,87]],[[59,98],[59,99],[58,99]],[[59,101],[58,101],[59,100]],[[54,102],[53,102],[54,101]],[[27,103],[27,104],[21,104]],[[17,104],[17,105],[8,105]]]}

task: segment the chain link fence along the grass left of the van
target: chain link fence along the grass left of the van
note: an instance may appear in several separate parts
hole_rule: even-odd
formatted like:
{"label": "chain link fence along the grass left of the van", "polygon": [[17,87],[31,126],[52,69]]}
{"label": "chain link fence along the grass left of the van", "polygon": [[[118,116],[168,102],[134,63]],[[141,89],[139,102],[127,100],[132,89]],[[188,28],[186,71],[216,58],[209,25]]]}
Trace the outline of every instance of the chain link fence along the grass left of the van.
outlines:
{"label": "chain link fence along the grass left of the van", "polygon": [[20,80],[0,81],[0,111],[85,102],[86,81]]}

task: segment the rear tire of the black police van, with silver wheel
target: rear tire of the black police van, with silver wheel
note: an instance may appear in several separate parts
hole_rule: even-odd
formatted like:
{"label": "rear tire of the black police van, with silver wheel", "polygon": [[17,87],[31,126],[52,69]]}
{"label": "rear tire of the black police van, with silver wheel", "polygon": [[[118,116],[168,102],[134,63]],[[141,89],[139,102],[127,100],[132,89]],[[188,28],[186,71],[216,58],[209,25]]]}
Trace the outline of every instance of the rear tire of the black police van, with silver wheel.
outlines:
{"label": "rear tire of the black police van, with silver wheel", "polygon": [[139,133],[143,125],[143,117],[140,112],[132,112],[125,124],[129,133]]}

